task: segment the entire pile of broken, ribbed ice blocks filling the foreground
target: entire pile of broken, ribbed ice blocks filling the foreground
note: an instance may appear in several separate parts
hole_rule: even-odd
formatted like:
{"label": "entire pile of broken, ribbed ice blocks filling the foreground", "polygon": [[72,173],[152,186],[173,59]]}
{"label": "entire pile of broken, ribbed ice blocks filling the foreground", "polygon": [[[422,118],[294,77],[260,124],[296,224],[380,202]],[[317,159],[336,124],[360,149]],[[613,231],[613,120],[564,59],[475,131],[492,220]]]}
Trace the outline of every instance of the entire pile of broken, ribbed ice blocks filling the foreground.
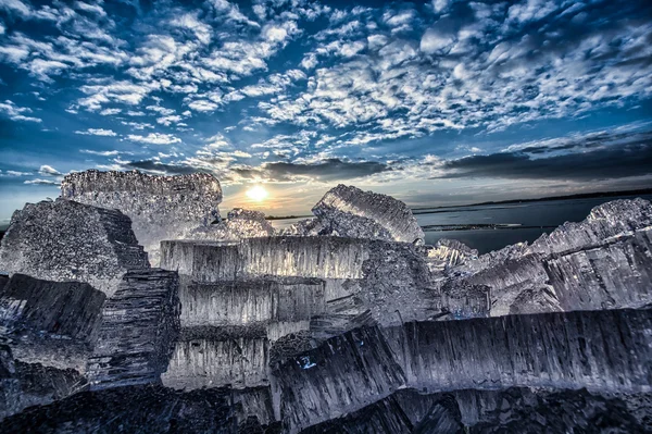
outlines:
{"label": "entire pile of broken, ribbed ice blocks filling the foreground", "polygon": [[648,201],[478,256],[354,187],[283,235],[208,175],[62,196],[0,247],[0,432],[652,430]]}

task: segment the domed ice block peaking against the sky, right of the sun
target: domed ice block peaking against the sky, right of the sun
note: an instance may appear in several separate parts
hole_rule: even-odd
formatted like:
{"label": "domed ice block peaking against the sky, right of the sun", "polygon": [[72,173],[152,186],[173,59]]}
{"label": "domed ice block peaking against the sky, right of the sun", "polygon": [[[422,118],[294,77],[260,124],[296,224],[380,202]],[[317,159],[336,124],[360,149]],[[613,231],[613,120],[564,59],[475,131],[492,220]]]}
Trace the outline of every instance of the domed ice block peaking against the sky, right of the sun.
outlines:
{"label": "domed ice block peaking against the sky, right of the sun", "polygon": [[[387,230],[397,241],[424,243],[424,232],[405,203],[390,196],[363,191],[353,186],[340,184],[328,190],[314,206],[313,213],[321,220],[335,221],[341,232],[351,232],[351,235],[340,232],[340,236],[355,236],[369,231],[385,236],[380,228],[368,227],[368,220],[372,220]],[[347,214],[351,215],[350,222],[346,221]]]}

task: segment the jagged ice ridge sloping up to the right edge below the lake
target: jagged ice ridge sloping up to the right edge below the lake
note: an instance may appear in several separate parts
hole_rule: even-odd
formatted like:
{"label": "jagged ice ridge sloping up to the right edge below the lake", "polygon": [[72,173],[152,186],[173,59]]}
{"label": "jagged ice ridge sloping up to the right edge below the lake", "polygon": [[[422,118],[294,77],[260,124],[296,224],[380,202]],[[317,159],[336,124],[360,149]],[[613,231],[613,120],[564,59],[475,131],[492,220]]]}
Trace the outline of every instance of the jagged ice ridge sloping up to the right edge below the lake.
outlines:
{"label": "jagged ice ridge sloping up to the right edge below the lake", "polygon": [[492,315],[639,307],[652,301],[652,204],[595,207],[531,246],[507,246],[447,269],[453,282],[491,288]]}

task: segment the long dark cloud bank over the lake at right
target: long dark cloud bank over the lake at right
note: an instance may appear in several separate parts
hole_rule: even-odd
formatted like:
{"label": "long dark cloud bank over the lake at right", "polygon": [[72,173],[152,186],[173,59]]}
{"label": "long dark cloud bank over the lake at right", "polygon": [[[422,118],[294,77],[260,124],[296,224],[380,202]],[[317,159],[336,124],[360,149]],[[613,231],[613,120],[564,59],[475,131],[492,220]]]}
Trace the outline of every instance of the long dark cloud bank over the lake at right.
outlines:
{"label": "long dark cloud bank over the lake at right", "polygon": [[635,140],[586,152],[548,158],[502,152],[450,160],[444,178],[500,177],[519,179],[598,181],[652,174],[652,140]]}

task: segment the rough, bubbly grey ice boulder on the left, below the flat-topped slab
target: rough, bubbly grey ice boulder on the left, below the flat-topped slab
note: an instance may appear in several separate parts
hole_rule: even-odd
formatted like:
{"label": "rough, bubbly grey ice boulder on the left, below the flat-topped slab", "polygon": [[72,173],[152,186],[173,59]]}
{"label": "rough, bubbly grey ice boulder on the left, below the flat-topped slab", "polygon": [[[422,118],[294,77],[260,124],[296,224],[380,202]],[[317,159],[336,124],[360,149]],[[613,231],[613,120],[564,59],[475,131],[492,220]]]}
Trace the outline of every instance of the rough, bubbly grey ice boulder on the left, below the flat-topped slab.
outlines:
{"label": "rough, bubbly grey ice boulder on the left, below the flat-topped slab", "polygon": [[63,199],[14,212],[0,246],[0,270],[86,282],[109,296],[128,269],[146,266],[128,216]]}

